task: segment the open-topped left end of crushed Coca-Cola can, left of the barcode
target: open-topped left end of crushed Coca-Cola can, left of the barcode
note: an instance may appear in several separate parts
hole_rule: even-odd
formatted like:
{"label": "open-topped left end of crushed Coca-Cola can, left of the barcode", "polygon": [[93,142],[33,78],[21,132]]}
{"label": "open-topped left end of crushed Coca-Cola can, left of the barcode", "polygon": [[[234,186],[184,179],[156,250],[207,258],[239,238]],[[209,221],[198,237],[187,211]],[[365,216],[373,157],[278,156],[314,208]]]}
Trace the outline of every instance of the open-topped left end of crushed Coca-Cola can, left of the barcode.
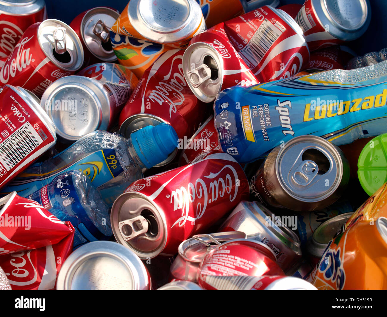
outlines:
{"label": "open-topped left end of crushed Coca-Cola can, left of the barcode", "polygon": [[219,91],[259,84],[231,45],[220,23],[190,41],[184,52],[183,70],[191,90],[204,102],[214,101]]}

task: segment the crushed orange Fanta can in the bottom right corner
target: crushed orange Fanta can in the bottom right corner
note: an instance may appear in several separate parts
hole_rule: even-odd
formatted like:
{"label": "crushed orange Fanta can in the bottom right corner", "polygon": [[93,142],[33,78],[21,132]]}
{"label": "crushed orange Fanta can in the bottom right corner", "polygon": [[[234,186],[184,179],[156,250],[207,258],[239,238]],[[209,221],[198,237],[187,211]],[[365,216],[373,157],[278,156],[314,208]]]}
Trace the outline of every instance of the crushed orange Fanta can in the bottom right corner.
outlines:
{"label": "crushed orange Fanta can in the bottom right corner", "polygon": [[387,290],[387,183],[333,238],[308,277],[319,290]]}

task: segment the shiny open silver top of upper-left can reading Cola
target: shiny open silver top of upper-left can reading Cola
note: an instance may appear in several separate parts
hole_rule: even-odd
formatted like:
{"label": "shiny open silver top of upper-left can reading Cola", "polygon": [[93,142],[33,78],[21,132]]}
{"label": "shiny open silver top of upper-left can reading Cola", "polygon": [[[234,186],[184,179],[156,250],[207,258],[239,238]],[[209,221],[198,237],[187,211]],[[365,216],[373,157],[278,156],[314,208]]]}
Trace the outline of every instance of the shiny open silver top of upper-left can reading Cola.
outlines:
{"label": "shiny open silver top of upper-left can reading Cola", "polygon": [[75,31],[62,21],[48,19],[39,25],[40,48],[57,67],[74,72],[82,67],[84,51]]}

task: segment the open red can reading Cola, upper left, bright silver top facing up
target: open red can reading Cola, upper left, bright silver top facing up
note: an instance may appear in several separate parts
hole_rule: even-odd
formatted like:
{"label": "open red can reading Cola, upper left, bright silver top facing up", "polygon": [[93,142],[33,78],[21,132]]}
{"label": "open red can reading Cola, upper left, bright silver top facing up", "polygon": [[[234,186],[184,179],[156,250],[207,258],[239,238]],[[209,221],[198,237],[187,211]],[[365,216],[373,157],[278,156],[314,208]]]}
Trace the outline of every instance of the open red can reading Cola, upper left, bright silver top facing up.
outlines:
{"label": "open red can reading Cola, upper left, bright silver top facing up", "polygon": [[24,87],[37,96],[58,78],[82,66],[79,37],[62,21],[49,19],[31,25],[0,70],[0,82]]}

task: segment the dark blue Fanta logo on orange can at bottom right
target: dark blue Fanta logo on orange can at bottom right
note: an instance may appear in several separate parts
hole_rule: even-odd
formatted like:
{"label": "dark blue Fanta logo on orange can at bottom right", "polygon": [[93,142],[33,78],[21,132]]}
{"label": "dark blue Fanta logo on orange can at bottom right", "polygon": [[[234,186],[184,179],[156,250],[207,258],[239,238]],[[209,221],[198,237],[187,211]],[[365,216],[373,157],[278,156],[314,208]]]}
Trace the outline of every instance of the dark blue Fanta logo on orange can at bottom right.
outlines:
{"label": "dark blue Fanta logo on orange can at bottom right", "polygon": [[340,247],[337,250],[331,249],[331,244],[332,241],[329,242],[320,260],[319,272],[322,273],[325,280],[335,283],[337,290],[342,290],[345,284],[345,272],[340,258],[341,249]]}

